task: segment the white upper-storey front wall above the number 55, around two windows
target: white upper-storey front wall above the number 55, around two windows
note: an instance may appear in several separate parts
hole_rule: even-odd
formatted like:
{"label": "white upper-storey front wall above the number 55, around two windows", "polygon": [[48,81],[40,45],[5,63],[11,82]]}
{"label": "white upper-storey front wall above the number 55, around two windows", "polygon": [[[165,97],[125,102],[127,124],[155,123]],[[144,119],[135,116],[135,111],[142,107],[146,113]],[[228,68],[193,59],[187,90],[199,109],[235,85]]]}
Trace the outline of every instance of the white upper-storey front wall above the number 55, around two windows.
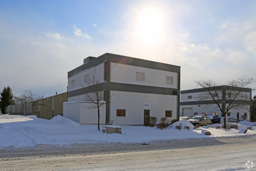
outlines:
{"label": "white upper-storey front wall above the number 55, around two windows", "polygon": [[[151,68],[111,63],[111,82],[178,88],[178,73]],[[136,72],[145,73],[145,81],[136,80]],[[166,76],[173,77],[173,84],[166,84]]]}

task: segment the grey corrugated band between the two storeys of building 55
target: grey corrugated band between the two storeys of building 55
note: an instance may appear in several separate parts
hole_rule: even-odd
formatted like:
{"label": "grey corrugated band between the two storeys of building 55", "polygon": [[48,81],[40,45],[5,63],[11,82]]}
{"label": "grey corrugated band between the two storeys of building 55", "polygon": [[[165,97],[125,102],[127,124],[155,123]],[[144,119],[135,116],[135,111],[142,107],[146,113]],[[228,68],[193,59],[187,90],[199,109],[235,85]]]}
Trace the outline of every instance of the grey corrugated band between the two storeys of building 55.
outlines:
{"label": "grey corrugated band between the two storeys of building 55", "polygon": [[[177,91],[177,95],[180,95],[180,90],[175,88],[163,88],[147,85],[136,85],[136,84],[125,84],[125,83],[113,83],[104,82],[101,83],[101,90],[113,90],[113,91],[127,91],[127,92],[140,92],[140,93],[152,93],[152,94],[163,94],[163,95],[173,95],[173,91]],[[90,93],[92,90],[90,88],[81,88],[68,92],[68,97],[84,95],[85,93]]]}

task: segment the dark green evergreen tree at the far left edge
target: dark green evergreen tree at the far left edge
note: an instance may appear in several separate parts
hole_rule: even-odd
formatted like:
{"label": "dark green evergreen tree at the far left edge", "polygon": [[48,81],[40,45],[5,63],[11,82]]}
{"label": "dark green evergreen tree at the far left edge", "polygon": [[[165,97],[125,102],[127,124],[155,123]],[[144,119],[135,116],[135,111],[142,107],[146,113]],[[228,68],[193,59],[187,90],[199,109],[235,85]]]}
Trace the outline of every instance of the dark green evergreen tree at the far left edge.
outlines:
{"label": "dark green evergreen tree at the far left edge", "polygon": [[14,104],[12,89],[8,85],[7,88],[4,87],[3,91],[0,92],[0,110],[2,113],[5,112],[5,108],[10,104]]}

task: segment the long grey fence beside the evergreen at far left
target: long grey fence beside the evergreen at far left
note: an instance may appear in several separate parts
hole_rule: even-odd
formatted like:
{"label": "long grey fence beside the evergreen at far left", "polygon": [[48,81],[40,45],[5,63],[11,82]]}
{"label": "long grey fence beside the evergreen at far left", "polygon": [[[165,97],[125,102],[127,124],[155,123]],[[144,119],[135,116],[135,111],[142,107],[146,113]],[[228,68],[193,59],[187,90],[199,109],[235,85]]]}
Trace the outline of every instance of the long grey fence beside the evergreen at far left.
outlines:
{"label": "long grey fence beside the evergreen at far left", "polygon": [[11,115],[32,115],[32,102],[9,105],[5,108],[5,111]]}

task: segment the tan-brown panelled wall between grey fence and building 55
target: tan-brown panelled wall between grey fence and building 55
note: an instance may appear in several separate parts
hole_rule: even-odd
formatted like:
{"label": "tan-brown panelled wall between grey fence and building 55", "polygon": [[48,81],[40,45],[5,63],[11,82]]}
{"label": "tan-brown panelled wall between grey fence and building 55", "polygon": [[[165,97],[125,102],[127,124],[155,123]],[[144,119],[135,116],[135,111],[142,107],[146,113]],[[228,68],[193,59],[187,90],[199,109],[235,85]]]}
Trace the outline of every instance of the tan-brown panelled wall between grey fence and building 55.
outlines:
{"label": "tan-brown panelled wall between grey fence and building 55", "polygon": [[33,107],[33,115],[37,115],[38,118],[48,120],[57,115],[63,116],[64,102],[67,102],[66,92],[41,99],[38,104]]}

